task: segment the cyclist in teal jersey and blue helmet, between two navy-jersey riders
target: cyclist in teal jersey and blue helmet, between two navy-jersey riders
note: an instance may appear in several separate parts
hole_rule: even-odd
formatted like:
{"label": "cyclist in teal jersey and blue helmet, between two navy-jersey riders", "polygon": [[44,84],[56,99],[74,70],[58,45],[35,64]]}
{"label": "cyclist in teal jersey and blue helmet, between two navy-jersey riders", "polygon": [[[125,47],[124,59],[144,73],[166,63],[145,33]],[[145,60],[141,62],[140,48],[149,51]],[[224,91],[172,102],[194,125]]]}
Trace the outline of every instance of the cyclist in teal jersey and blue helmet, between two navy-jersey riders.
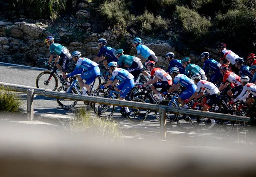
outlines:
{"label": "cyclist in teal jersey and blue helmet, between two navy-jersey riders", "polygon": [[189,73],[191,73],[191,75],[194,75],[195,73],[199,73],[202,76],[203,80],[207,80],[204,70],[202,70],[202,68],[196,64],[190,64],[190,61],[191,60],[189,57],[185,57],[181,61],[181,63],[183,64],[183,67],[185,68],[184,74],[188,75]]}

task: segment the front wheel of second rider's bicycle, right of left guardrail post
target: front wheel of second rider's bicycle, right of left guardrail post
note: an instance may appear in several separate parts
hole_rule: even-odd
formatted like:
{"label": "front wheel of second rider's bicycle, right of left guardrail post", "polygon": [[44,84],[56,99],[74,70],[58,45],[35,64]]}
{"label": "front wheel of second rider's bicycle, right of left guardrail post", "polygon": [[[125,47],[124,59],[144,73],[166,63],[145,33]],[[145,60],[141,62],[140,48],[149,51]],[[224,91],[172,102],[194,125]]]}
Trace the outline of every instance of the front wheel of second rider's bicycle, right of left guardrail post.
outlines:
{"label": "front wheel of second rider's bicycle, right of left guardrail post", "polygon": [[[70,89],[70,87],[71,87],[70,85],[61,85],[61,87],[59,87],[57,89],[57,91],[67,93],[66,91],[68,89]],[[71,92],[69,92],[69,93],[77,94],[77,90],[74,87],[72,87]],[[70,109],[70,108],[76,106],[76,104],[78,102],[77,100],[61,99],[61,98],[56,98],[56,101],[57,101],[58,105],[60,105],[60,107],[62,107],[64,109]]]}

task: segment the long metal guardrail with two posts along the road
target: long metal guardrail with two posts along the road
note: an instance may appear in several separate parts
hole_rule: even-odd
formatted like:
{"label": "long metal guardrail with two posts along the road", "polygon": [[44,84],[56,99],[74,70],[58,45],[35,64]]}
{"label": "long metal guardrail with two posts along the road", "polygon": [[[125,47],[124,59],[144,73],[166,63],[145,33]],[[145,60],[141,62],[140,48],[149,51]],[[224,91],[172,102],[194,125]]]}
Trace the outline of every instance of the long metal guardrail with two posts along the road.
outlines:
{"label": "long metal guardrail with two posts along the road", "polygon": [[62,99],[72,99],[78,100],[82,102],[94,102],[100,104],[111,104],[115,106],[122,106],[122,107],[135,107],[140,109],[147,109],[147,110],[155,110],[160,112],[160,129],[161,135],[163,138],[166,137],[167,129],[166,129],[166,112],[172,113],[179,113],[185,114],[189,116],[200,116],[212,119],[222,119],[222,120],[229,120],[229,121],[239,121],[239,122],[249,122],[250,118],[243,117],[243,116],[235,116],[235,115],[227,115],[222,113],[212,113],[212,112],[205,112],[200,110],[191,110],[182,107],[172,107],[172,106],[164,106],[158,104],[149,104],[149,103],[140,103],[140,102],[131,102],[119,99],[108,99],[108,98],[99,98],[95,96],[81,96],[72,93],[60,93],[57,91],[47,90],[47,89],[39,89],[36,87],[29,87],[17,84],[9,84],[0,82],[0,86],[2,86],[6,90],[16,91],[16,92],[23,92],[28,94],[27,99],[27,119],[32,120],[34,117],[34,110],[33,110],[33,98],[34,94],[36,95],[44,95],[47,97],[54,97],[54,98],[62,98]]}

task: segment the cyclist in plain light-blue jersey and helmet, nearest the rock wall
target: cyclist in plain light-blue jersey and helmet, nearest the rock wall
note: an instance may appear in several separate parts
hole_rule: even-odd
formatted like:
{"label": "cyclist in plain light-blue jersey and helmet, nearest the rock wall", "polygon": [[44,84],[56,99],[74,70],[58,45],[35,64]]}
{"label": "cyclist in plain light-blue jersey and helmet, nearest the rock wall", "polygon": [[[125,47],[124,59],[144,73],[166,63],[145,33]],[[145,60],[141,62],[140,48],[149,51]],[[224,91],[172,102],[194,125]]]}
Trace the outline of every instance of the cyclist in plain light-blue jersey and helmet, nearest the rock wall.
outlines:
{"label": "cyclist in plain light-blue jersey and helmet, nearest the rock wall", "polygon": [[149,49],[147,46],[141,44],[141,39],[140,38],[134,38],[132,41],[134,47],[137,49],[137,57],[141,59],[141,56],[143,56],[143,60],[141,61],[144,63],[145,61],[154,61],[157,64],[158,58],[155,55],[155,53]]}

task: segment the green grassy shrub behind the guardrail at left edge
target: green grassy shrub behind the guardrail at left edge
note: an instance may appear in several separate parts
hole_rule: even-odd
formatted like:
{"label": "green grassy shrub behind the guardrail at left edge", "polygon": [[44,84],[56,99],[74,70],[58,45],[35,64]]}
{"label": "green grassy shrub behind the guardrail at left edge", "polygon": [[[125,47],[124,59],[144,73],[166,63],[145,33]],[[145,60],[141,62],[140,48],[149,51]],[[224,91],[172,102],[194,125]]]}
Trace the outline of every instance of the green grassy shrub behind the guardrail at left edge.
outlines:
{"label": "green grassy shrub behind the guardrail at left edge", "polygon": [[9,90],[3,90],[0,87],[0,111],[3,112],[17,112],[20,110],[22,101],[20,96],[17,96],[15,92]]}

